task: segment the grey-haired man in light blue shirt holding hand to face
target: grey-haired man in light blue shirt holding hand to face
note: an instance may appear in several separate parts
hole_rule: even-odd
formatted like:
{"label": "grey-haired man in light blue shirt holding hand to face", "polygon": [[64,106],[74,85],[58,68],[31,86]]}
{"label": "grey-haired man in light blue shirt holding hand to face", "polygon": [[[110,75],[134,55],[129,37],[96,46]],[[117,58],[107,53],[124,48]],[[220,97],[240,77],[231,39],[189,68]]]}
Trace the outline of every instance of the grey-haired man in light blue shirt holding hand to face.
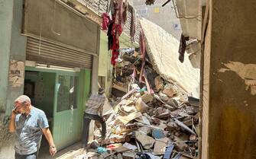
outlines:
{"label": "grey-haired man in light blue shirt holding hand to face", "polygon": [[15,100],[9,130],[15,133],[15,159],[36,159],[43,133],[50,145],[50,154],[57,152],[44,111],[33,107],[28,96],[21,95]]}

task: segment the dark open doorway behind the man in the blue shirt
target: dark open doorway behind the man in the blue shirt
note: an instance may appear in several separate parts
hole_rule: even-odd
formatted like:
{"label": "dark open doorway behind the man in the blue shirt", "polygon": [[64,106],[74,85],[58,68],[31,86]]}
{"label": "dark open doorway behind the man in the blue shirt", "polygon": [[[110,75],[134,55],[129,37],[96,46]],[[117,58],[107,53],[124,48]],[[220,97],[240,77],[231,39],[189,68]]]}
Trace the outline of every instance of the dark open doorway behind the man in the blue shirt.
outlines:
{"label": "dark open doorway behind the man in the blue shirt", "polygon": [[[53,132],[55,79],[56,73],[53,72],[25,71],[24,94],[31,98],[34,107],[44,111],[51,132]],[[48,142],[44,135],[41,148],[48,148]]]}

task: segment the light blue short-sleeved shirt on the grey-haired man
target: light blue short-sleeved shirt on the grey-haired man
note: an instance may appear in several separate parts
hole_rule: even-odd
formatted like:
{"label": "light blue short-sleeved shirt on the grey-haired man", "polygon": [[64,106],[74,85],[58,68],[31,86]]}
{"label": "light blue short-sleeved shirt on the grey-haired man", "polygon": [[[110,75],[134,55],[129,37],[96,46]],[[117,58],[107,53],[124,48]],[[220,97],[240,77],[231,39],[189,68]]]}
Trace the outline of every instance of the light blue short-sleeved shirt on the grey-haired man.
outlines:
{"label": "light blue short-sleeved shirt on the grey-haired man", "polygon": [[18,154],[33,154],[41,144],[42,129],[48,128],[47,117],[43,110],[35,107],[28,116],[18,114],[15,118],[15,151]]}

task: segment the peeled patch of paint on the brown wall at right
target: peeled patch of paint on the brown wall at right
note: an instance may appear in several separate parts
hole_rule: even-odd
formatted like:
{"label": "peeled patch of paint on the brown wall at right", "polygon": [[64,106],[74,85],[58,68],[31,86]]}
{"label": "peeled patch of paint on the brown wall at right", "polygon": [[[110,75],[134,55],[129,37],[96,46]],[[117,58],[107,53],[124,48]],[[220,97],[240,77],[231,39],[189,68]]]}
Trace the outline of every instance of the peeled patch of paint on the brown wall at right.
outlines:
{"label": "peeled patch of paint on the brown wall at right", "polygon": [[256,64],[244,64],[242,62],[224,63],[225,68],[219,69],[219,72],[235,72],[240,78],[245,80],[245,90],[251,90],[252,95],[256,95]]}

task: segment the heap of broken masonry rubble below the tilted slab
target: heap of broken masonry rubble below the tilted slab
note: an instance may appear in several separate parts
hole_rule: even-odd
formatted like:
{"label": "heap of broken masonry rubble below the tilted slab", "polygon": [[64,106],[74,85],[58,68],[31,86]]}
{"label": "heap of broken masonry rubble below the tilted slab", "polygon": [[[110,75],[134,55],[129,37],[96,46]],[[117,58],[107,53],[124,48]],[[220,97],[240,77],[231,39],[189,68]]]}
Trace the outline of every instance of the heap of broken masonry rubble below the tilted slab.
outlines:
{"label": "heap of broken masonry rubble below the tilted slab", "polygon": [[[138,52],[122,54],[115,69],[115,84],[126,85],[105,114],[107,135],[94,132],[87,158],[179,159],[197,158],[199,100],[176,84],[164,81],[146,58],[143,69]],[[140,81],[140,70],[144,80]]]}

